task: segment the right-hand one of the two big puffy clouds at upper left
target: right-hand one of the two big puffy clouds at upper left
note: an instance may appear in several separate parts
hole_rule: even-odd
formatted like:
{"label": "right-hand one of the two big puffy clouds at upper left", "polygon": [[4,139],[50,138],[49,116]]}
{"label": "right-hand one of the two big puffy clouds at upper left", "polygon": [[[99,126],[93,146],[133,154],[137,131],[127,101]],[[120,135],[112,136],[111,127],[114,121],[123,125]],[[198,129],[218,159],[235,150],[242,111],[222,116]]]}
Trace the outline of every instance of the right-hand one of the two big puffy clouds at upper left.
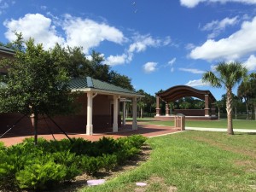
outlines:
{"label": "right-hand one of the two big puffy clouds at upper left", "polygon": [[102,41],[115,44],[122,44],[125,41],[124,34],[113,26],[71,15],[66,15],[63,29],[67,35],[67,44],[72,47],[82,46],[85,53],[97,47]]}

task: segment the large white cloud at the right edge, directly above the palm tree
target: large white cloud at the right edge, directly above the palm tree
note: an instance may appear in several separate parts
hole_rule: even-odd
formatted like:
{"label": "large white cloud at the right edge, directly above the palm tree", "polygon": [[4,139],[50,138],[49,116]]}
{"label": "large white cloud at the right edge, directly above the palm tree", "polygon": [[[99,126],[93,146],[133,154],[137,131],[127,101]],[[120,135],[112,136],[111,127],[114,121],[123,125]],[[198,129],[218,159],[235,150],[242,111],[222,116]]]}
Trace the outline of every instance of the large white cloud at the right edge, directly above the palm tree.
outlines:
{"label": "large white cloud at the right edge, directly above the palm tree", "polygon": [[244,21],[241,29],[229,38],[218,41],[208,39],[190,52],[193,59],[211,61],[214,59],[237,60],[243,55],[256,51],[256,17],[252,21]]}

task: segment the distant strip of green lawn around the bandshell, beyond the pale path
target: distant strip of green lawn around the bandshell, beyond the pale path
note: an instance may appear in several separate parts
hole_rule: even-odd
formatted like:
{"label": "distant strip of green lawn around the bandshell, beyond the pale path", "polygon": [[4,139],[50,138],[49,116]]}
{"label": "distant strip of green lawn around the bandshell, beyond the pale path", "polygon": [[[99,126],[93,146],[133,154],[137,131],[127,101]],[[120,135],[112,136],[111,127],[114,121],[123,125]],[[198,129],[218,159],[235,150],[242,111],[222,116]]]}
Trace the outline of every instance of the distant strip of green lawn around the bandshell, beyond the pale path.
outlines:
{"label": "distant strip of green lawn around the bandshell, beyond the pale path", "polygon": [[[143,121],[143,119],[139,119]],[[154,119],[146,119],[148,124],[154,125],[169,125],[174,126],[174,121],[154,121]],[[227,119],[220,120],[186,120],[186,126],[190,127],[202,127],[202,128],[227,128]],[[256,130],[256,121],[255,120],[234,120],[233,119],[234,129],[254,129]]]}

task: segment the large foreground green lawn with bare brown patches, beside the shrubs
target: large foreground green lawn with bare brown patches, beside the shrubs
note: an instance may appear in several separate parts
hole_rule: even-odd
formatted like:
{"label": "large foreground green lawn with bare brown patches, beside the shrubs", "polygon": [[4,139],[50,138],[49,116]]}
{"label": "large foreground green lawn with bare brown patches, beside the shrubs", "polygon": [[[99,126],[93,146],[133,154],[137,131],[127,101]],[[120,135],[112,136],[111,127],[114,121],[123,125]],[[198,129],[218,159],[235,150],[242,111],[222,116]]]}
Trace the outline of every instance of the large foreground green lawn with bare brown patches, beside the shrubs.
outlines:
{"label": "large foreground green lawn with bare brown patches, beside the shrubs", "polygon": [[[147,161],[82,191],[255,191],[255,135],[185,131],[149,138]],[[137,182],[147,183],[145,187]]]}

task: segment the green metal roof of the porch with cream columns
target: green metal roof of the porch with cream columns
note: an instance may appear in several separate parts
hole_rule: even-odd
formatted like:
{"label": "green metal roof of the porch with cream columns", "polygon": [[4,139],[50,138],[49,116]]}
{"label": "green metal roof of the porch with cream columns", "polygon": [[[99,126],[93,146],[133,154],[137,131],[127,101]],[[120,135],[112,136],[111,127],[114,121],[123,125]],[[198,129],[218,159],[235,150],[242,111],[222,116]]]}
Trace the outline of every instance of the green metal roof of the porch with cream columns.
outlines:
{"label": "green metal roof of the porch with cream columns", "polygon": [[90,91],[94,90],[96,92],[108,93],[108,94],[118,94],[122,96],[138,96],[143,97],[143,95],[137,94],[137,92],[132,90],[127,90],[113,84],[108,84],[97,79],[92,79],[90,77],[71,79],[70,88],[74,90]]}

